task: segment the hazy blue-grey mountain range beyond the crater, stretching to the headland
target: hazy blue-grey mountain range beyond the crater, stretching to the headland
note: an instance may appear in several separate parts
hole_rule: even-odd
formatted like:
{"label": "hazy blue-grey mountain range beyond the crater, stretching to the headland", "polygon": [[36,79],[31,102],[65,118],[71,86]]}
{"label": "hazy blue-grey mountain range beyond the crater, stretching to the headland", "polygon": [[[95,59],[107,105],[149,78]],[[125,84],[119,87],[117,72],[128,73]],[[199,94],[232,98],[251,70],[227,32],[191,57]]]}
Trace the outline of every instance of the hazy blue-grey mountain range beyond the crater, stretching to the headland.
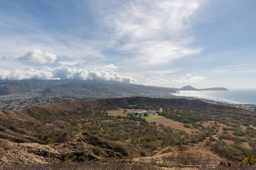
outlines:
{"label": "hazy blue-grey mountain range beyond the crater, stretching to the headland", "polygon": [[159,86],[144,86],[117,81],[82,81],[82,80],[0,80],[0,95],[18,94],[28,91],[37,91],[43,96],[87,96],[93,98],[119,96],[151,96],[168,97],[170,93],[188,90],[227,91],[218,87],[209,89],[195,89],[184,86],[181,89]]}

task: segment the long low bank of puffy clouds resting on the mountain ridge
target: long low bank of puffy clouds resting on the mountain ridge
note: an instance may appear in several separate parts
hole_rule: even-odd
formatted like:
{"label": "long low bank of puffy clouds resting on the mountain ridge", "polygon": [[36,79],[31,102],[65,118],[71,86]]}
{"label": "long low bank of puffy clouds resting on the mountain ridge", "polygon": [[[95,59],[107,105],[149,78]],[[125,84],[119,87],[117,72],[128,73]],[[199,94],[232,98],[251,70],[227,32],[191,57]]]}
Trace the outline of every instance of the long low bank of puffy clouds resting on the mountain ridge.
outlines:
{"label": "long low bank of puffy clouds resting on the mountain ridge", "polygon": [[80,79],[97,81],[119,81],[136,83],[137,81],[129,76],[122,76],[116,72],[106,72],[92,69],[76,69],[70,67],[58,67],[54,69],[16,69],[0,73],[0,79],[21,80],[21,79]]}

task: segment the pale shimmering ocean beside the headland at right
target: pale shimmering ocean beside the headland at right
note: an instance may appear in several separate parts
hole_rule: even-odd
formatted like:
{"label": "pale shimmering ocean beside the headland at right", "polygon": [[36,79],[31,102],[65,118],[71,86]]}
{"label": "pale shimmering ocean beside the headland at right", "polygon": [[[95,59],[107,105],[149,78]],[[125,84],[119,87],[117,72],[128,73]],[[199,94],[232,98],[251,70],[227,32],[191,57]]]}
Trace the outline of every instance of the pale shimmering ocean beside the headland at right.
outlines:
{"label": "pale shimmering ocean beside the headland at right", "polygon": [[219,101],[230,104],[255,104],[255,90],[230,90],[230,91],[177,91],[174,96],[195,97],[210,101]]}

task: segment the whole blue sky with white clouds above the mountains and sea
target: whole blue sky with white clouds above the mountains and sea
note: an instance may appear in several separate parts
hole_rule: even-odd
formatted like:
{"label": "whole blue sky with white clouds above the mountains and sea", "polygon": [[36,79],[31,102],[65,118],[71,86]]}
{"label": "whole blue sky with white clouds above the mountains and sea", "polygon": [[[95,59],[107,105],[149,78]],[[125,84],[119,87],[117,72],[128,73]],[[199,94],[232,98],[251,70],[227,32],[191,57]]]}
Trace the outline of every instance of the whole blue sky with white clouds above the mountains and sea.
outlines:
{"label": "whole blue sky with white clouds above the mountains and sea", "polygon": [[0,79],[256,89],[254,0],[0,0]]}

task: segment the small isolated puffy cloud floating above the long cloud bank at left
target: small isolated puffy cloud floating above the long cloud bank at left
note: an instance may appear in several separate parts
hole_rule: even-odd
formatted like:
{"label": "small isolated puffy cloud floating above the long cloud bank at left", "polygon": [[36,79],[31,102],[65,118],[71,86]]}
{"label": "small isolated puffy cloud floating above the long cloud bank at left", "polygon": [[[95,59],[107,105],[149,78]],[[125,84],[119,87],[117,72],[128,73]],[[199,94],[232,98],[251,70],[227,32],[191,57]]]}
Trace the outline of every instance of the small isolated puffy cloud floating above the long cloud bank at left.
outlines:
{"label": "small isolated puffy cloud floating above the long cloud bank at left", "polygon": [[40,49],[36,49],[36,50],[31,50],[30,52],[27,52],[24,55],[20,55],[16,59],[22,60],[22,61],[40,62],[41,64],[46,64],[46,63],[55,62],[55,60],[57,59],[57,55],[50,52],[41,51]]}

